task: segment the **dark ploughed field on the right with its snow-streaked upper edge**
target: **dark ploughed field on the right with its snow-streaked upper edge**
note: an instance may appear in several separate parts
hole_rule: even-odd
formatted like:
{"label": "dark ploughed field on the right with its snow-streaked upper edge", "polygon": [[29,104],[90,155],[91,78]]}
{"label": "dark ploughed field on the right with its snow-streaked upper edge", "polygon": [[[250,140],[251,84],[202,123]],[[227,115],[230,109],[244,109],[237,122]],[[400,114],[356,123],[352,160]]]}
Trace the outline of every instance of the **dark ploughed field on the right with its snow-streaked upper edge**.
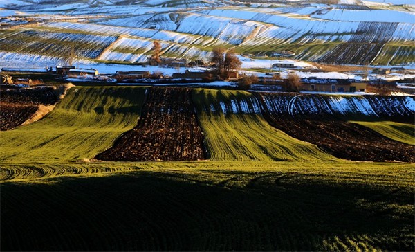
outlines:
{"label": "dark ploughed field on the right with its snow-streaked upper edge", "polygon": [[[374,100],[388,103],[387,98],[341,97],[344,101],[339,102],[330,96],[283,93],[261,93],[259,98],[264,104],[264,115],[271,125],[290,136],[314,143],[334,156],[360,161],[415,161],[413,145],[392,141],[367,127],[342,119],[358,113],[366,114],[367,118],[381,118],[382,114],[391,116],[389,112],[396,107],[371,105]],[[402,107],[398,111],[401,116],[413,123],[414,111],[405,107],[408,98],[394,98],[392,102],[389,100],[389,104],[400,103]],[[347,115],[347,108],[353,109],[352,115]]]}

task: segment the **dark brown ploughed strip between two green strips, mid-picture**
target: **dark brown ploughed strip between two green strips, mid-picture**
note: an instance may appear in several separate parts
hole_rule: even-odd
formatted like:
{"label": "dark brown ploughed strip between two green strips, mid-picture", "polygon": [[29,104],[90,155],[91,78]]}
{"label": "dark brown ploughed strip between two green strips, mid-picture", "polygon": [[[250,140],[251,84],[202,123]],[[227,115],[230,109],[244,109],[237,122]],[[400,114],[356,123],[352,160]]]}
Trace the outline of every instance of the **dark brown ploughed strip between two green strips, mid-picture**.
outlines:
{"label": "dark brown ploughed strip between two green strips, mid-picture", "polygon": [[205,159],[203,133],[191,89],[151,88],[138,125],[123,134],[104,161],[193,161]]}

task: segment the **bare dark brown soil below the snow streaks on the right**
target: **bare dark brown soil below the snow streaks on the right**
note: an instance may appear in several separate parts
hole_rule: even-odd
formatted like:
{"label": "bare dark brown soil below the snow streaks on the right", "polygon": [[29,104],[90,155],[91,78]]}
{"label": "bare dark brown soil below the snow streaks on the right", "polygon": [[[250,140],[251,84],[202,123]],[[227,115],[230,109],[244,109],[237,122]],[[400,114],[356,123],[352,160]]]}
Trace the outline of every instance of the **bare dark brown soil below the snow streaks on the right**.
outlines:
{"label": "bare dark brown soil below the snow streaks on the right", "polygon": [[261,93],[257,97],[264,118],[277,129],[302,141],[313,143],[325,152],[341,159],[355,161],[404,161],[415,162],[415,147],[391,140],[373,130],[329,113],[291,115],[288,111],[267,107],[264,96],[277,94]]}

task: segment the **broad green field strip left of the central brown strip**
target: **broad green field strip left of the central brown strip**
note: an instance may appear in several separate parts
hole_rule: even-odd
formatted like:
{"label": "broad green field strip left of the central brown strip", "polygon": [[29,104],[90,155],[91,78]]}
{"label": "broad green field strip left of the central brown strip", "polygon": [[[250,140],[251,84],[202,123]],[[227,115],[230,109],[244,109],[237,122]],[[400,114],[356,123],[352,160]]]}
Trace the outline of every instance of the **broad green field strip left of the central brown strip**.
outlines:
{"label": "broad green field strip left of the central brown strip", "polygon": [[138,122],[145,89],[75,87],[37,123],[0,132],[0,160],[49,163],[91,159]]}

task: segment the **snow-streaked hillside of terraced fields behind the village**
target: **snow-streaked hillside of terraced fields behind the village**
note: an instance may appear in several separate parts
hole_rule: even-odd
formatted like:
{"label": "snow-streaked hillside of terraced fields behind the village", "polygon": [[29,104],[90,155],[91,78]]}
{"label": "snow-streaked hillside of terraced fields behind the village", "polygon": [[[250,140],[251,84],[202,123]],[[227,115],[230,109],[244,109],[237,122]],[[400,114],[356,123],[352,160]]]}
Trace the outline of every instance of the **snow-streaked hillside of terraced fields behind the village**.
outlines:
{"label": "snow-streaked hillside of terraced fields behind the village", "polygon": [[28,1],[26,6],[21,1],[5,7],[18,10],[3,10],[0,21],[0,60],[5,62],[21,57],[59,61],[72,47],[81,60],[145,62],[154,40],[160,41],[164,57],[205,59],[221,45],[238,53],[293,51],[297,60],[335,64],[415,62],[411,1]]}

